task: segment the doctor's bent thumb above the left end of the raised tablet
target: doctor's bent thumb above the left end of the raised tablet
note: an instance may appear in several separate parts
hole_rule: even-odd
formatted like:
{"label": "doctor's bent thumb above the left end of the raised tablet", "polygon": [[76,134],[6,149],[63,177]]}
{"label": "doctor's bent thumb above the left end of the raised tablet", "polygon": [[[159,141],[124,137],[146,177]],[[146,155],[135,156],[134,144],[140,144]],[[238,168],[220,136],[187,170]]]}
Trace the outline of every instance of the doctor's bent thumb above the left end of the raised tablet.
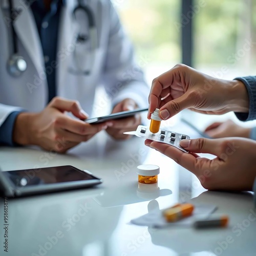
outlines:
{"label": "doctor's bent thumb above the left end of the raised tablet", "polygon": [[88,118],[88,114],[82,110],[80,103],[76,100],[55,97],[51,100],[49,106],[52,106],[53,108],[56,108],[62,112],[71,112],[74,116],[76,116],[79,119]]}

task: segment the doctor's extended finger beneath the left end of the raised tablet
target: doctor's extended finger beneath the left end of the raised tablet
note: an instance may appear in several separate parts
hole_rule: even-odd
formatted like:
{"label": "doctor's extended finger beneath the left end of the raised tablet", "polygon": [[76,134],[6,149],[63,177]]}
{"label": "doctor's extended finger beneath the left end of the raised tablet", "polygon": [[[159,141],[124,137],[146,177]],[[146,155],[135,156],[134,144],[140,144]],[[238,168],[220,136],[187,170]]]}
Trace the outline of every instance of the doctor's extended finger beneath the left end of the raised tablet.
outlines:
{"label": "doctor's extended finger beneath the left end of the raised tablet", "polygon": [[81,120],[74,120],[66,115],[56,118],[55,125],[62,130],[78,135],[94,135],[108,127],[105,123],[91,125]]}

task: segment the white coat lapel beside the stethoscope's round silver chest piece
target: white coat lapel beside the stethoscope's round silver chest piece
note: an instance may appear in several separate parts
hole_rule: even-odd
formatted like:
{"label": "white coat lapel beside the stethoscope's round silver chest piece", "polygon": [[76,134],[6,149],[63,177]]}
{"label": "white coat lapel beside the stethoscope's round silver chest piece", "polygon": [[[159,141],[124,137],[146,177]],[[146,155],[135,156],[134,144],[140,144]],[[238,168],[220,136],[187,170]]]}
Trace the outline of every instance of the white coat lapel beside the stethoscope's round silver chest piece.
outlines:
{"label": "white coat lapel beside the stethoscope's round silver chest piece", "polygon": [[23,46],[27,50],[35,68],[39,74],[44,73],[44,59],[40,43],[40,38],[34,22],[33,13],[30,7],[25,4],[21,6],[22,1],[15,0],[14,8],[21,9],[13,23],[17,37],[22,41]]}

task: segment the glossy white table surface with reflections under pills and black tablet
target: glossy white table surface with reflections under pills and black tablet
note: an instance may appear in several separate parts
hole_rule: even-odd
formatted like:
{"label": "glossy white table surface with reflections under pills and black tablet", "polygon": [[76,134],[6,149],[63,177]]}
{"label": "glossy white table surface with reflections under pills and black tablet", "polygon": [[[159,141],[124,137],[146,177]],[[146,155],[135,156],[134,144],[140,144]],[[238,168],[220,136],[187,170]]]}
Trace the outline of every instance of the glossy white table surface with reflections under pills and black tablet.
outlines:
{"label": "glossy white table surface with reflections under pills and black tablet", "polygon": [[[156,186],[138,191],[136,167],[142,163],[159,165],[160,175]],[[256,255],[256,218],[248,220],[252,195],[206,191],[194,175],[144,146],[143,139],[118,142],[101,133],[66,155],[0,147],[2,170],[56,165],[88,169],[104,182],[90,189],[10,199],[8,252],[3,248],[4,200],[0,199],[0,255]],[[154,208],[190,199],[214,204],[217,213],[228,214],[228,228],[156,230],[129,223]],[[88,210],[80,217],[81,207]],[[50,243],[59,231],[62,238]],[[47,250],[40,250],[45,246]]]}

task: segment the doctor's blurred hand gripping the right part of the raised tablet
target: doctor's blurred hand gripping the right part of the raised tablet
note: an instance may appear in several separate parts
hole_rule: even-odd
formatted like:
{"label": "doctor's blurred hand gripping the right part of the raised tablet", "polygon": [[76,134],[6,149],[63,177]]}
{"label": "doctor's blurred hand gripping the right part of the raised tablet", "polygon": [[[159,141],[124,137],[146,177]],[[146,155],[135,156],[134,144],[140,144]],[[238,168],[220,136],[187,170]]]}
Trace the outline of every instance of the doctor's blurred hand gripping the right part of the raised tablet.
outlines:
{"label": "doctor's blurred hand gripping the right part of the raised tablet", "polygon": [[[137,109],[138,106],[133,99],[124,99],[118,104],[115,105],[112,113],[134,110]],[[131,135],[123,134],[123,132],[136,131],[138,125],[141,123],[140,114],[136,114],[132,117],[126,117],[123,119],[116,119],[112,121],[108,121],[108,128],[106,132],[117,140],[129,139]]]}

